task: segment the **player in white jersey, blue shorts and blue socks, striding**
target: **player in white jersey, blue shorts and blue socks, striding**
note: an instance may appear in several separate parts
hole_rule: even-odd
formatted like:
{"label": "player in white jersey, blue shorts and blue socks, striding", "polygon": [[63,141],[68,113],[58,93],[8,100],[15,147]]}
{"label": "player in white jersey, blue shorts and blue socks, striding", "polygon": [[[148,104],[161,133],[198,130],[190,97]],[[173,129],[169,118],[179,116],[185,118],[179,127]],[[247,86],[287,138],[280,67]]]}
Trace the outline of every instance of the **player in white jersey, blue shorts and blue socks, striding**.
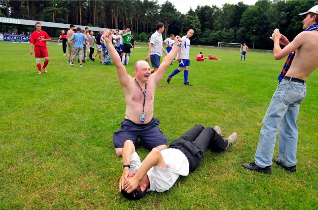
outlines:
{"label": "player in white jersey, blue shorts and blue socks, striding", "polygon": [[178,62],[179,68],[172,71],[172,73],[168,76],[167,82],[170,83],[172,76],[179,73],[184,69],[183,76],[184,76],[184,85],[192,86],[188,82],[188,75],[189,75],[189,67],[190,67],[190,37],[194,34],[193,29],[189,29],[187,35],[182,37],[182,46],[178,52]]}

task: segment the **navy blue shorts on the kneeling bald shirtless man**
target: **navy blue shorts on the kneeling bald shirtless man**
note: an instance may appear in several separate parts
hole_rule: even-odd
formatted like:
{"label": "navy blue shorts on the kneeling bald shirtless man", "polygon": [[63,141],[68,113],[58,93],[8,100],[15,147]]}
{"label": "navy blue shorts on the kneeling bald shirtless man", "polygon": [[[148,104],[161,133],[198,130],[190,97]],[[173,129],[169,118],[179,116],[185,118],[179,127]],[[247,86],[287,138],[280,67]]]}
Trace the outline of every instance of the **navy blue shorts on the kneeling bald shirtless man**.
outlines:
{"label": "navy blue shorts on the kneeling bald shirtless man", "polygon": [[126,140],[132,140],[137,144],[138,138],[148,149],[167,144],[167,137],[159,129],[159,120],[153,118],[148,124],[136,124],[125,119],[120,124],[120,130],[114,132],[113,141],[115,148],[123,148]]}

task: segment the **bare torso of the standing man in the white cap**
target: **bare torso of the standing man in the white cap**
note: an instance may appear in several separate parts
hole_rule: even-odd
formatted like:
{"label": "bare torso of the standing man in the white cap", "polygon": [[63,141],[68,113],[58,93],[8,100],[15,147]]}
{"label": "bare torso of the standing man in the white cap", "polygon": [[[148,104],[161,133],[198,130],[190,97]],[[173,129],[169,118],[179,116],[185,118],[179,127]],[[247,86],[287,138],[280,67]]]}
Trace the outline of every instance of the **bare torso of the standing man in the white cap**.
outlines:
{"label": "bare torso of the standing man in the white cap", "polygon": [[318,31],[305,31],[304,43],[296,50],[296,54],[286,76],[306,80],[318,67]]}

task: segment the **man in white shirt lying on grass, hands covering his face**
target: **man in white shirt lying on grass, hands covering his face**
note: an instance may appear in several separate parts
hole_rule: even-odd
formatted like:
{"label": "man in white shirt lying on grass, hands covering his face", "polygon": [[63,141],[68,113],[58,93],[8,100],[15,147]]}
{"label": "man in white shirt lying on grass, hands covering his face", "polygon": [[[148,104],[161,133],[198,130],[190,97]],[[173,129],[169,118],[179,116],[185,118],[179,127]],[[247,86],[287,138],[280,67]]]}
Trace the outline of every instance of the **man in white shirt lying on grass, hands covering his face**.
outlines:
{"label": "man in white shirt lying on grass, hands covering his face", "polygon": [[212,129],[196,125],[172,141],[169,148],[161,151],[154,148],[143,162],[135,151],[134,143],[126,140],[119,191],[129,200],[139,200],[148,191],[169,190],[179,176],[187,176],[199,166],[207,148],[216,152],[226,151],[237,140],[235,132],[224,140],[220,126]]}

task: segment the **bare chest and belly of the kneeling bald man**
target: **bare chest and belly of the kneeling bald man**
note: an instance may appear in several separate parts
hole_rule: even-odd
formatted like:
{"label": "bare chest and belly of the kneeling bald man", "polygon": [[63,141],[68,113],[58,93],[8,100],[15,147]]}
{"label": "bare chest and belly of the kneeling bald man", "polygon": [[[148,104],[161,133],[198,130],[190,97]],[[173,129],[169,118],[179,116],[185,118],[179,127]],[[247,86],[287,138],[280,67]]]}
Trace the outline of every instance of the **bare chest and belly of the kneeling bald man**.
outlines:
{"label": "bare chest and belly of the kneeling bald man", "polygon": [[[144,110],[146,118],[144,123],[140,122],[140,115],[143,113],[144,94],[141,91],[139,85],[135,79],[131,77],[129,80],[129,85],[123,88],[126,100],[125,118],[133,121],[136,124],[147,124],[154,117],[154,99],[157,85],[154,85],[154,81],[151,78],[149,78],[146,83],[147,91]],[[145,92],[145,84],[140,85]]]}

